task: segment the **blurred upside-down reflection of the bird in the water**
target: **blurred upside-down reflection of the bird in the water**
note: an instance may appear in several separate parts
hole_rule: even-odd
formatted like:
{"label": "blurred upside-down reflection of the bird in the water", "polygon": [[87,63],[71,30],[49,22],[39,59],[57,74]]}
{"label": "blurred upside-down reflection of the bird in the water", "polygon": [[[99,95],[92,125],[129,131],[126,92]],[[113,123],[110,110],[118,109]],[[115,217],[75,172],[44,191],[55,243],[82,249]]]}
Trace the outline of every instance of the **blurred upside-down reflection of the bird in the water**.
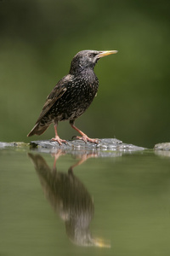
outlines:
{"label": "blurred upside-down reflection of the bird in the water", "polygon": [[55,165],[59,151],[54,155],[54,166],[50,168],[40,154],[28,154],[37,170],[42,189],[54,212],[65,222],[66,234],[71,241],[79,246],[111,247],[102,239],[94,238],[89,224],[94,217],[94,201],[83,183],[74,175],[73,168],[93,154],[83,154],[67,173],[58,172]]}

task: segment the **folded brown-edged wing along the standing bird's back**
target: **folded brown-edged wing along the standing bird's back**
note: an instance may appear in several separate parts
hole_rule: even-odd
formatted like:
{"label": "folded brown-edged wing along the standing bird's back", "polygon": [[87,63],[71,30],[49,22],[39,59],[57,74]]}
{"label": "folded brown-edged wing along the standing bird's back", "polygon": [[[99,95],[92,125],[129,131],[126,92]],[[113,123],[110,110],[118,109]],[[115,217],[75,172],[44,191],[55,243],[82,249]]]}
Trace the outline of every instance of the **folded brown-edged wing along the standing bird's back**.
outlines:
{"label": "folded brown-edged wing along the standing bird's back", "polygon": [[42,119],[42,117],[48,113],[49,109],[54,105],[54,103],[64,95],[67,90],[67,85],[71,82],[70,75],[65,76],[65,78],[61,79],[58,84],[55,85],[54,90],[47,97],[47,101],[45,102],[42,112],[40,113],[39,118],[37,119],[37,123]]}

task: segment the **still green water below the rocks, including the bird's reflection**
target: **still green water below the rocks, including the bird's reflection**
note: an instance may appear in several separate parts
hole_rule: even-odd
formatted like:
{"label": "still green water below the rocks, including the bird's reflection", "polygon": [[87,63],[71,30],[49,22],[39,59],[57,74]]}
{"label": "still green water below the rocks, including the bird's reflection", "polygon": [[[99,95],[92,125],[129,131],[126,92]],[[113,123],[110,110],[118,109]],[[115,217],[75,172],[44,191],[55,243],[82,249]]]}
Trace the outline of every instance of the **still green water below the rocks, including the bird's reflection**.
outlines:
{"label": "still green water below the rocks, including the bird's reflection", "polygon": [[170,255],[170,154],[0,151],[0,255]]}

